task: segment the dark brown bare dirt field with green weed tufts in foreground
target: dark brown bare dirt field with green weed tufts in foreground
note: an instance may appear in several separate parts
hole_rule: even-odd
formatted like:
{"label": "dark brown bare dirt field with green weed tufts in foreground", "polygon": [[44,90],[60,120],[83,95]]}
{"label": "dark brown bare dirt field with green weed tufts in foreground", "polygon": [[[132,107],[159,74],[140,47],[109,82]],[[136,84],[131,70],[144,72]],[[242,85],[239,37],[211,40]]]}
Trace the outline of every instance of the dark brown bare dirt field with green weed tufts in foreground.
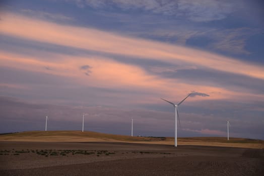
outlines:
{"label": "dark brown bare dirt field with green weed tufts in foreground", "polygon": [[0,142],[0,175],[264,175],[263,149]]}

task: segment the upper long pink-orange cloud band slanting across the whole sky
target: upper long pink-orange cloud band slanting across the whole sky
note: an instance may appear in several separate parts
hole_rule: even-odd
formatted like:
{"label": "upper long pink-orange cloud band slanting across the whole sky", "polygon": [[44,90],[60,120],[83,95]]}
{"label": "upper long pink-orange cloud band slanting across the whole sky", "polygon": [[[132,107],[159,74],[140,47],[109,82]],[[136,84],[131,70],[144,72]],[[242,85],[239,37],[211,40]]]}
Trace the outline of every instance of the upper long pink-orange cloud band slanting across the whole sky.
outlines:
{"label": "upper long pink-orange cloud band slanting across the whole sky", "polygon": [[[5,35],[109,54],[141,57],[151,60],[163,58],[168,63],[188,63],[198,68],[206,67],[264,79],[264,71],[261,65],[242,62],[205,51],[123,37],[95,29],[57,25],[15,14],[3,16],[3,18],[4,21],[2,22],[0,33]],[[38,28],[35,26],[38,26]],[[25,33],[24,31],[29,32]],[[245,72],[244,70],[250,71]]]}

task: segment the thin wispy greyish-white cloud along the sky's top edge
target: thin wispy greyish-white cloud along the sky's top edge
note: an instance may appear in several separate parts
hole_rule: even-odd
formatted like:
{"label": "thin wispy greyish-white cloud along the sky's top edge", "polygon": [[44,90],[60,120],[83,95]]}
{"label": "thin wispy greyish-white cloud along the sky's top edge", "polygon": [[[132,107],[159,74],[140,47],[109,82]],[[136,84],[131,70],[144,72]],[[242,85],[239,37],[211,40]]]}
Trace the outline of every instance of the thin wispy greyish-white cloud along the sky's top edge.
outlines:
{"label": "thin wispy greyish-white cloud along the sky's top edge", "polygon": [[221,20],[235,11],[235,8],[241,6],[241,2],[219,2],[212,0],[197,1],[158,1],[158,0],[86,0],[81,3],[76,1],[77,5],[83,8],[85,4],[95,9],[111,9],[118,7],[122,10],[143,10],[153,14],[162,14],[174,16],[175,18],[188,19],[194,22],[208,22]]}

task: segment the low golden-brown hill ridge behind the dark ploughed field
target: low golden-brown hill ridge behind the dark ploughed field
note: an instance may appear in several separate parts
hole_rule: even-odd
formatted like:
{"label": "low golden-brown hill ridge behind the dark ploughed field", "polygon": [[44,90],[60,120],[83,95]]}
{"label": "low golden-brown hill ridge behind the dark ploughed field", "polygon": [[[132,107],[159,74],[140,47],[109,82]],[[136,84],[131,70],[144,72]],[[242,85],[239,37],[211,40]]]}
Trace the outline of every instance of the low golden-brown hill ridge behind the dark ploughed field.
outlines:
{"label": "low golden-brown hill ridge behind the dark ploughed field", "polygon": [[[92,131],[27,131],[0,135],[0,141],[40,142],[133,142],[173,145],[173,137],[131,137]],[[241,148],[264,148],[263,140],[225,137],[179,137],[178,145],[206,145]]]}

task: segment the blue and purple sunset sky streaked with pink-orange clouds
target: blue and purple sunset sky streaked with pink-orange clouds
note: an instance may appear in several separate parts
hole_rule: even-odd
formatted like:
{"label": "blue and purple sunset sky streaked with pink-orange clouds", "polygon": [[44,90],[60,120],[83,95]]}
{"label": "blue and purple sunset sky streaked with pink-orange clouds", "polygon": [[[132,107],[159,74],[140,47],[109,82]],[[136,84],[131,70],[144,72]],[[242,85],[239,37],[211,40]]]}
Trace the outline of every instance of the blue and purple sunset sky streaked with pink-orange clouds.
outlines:
{"label": "blue and purple sunset sky streaked with pink-orange clouds", "polygon": [[0,1],[0,133],[264,139],[264,3]]}

